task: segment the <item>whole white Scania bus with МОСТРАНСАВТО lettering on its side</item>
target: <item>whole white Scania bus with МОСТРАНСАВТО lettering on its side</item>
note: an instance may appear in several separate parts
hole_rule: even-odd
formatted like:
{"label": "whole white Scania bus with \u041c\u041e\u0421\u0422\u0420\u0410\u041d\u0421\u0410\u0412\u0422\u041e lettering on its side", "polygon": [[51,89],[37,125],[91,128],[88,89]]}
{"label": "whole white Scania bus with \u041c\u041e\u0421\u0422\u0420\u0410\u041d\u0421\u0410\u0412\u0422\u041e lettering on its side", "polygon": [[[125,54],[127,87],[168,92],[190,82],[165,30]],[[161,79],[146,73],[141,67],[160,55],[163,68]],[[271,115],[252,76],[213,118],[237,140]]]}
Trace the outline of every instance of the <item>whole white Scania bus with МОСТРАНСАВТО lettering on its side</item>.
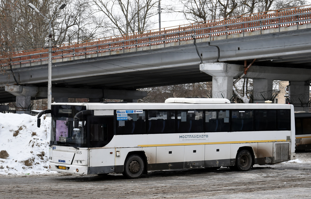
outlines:
{"label": "whole white Scania bus with \u041c\u041e\u0421\u0422\u0420\u0410\u041d\u0421\u0410\u0412\u0422\u041e lettering on its side", "polygon": [[248,171],[295,158],[294,107],[169,98],[165,103],[53,103],[49,169],[76,174],[213,168]]}

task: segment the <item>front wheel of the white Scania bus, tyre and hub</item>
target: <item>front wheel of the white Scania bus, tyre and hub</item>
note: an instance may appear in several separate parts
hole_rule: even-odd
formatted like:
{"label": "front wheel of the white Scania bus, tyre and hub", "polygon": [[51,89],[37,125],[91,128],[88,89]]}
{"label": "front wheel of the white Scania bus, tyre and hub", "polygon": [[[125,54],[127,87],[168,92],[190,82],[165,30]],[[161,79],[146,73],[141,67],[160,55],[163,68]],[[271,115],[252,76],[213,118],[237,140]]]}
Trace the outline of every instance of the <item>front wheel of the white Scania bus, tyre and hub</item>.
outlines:
{"label": "front wheel of the white Scania bus, tyre and hub", "polygon": [[139,178],[144,172],[145,164],[139,155],[130,155],[125,160],[124,172],[122,173],[125,177],[133,179]]}

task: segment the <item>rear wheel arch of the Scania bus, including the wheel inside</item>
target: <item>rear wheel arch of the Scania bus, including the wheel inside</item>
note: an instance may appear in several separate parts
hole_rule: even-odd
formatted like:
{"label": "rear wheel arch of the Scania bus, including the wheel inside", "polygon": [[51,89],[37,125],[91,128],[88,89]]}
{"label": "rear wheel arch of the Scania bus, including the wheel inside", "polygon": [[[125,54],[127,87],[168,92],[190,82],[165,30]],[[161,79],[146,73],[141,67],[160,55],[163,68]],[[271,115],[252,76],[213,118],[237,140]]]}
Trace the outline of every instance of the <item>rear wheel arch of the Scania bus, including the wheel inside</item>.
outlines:
{"label": "rear wheel arch of the Scania bus, including the wheel inside", "polygon": [[238,171],[248,171],[254,165],[254,157],[252,147],[240,147],[235,158],[235,169]]}

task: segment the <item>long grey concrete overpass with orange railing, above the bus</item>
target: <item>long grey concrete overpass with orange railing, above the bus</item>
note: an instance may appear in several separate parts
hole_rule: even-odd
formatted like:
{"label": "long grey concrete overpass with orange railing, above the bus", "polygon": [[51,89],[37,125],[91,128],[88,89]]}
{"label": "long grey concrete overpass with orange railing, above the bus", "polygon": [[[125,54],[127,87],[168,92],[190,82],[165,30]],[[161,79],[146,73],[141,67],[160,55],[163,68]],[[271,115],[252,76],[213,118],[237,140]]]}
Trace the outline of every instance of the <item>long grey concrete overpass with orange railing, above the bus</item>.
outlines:
{"label": "long grey concrete overpass with orange railing, above the bus", "polygon": [[[286,80],[297,85],[292,95],[309,94],[310,23],[311,10],[303,7],[56,46],[52,97],[130,101],[146,95],[137,88],[213,80],[213,91],[226,90],[230,99],[229,82],[253,59],[244,78],[254,78],[254,90]],[[47,49],[2,58],[2,68],[0,103],[47,97]]]}

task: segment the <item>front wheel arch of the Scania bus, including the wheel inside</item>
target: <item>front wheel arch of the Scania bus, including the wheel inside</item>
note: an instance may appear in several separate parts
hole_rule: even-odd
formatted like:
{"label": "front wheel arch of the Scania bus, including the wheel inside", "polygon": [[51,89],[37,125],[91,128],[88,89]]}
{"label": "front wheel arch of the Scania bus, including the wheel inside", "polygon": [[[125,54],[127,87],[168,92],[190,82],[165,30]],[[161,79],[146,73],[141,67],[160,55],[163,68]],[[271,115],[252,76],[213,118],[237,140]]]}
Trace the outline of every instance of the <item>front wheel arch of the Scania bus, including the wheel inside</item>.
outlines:
{"label": "front wheel arch of the Scania bus, including the wheel inside", "polygon": [[[132,162],[139,170],[131,170],[128,165]],[[142,169],[142,170],[140,170]],[[147,174],[147,157],[144,151],[131,151],[124,161],[123,173],[127,178],[139,178],[142,174]]]}

